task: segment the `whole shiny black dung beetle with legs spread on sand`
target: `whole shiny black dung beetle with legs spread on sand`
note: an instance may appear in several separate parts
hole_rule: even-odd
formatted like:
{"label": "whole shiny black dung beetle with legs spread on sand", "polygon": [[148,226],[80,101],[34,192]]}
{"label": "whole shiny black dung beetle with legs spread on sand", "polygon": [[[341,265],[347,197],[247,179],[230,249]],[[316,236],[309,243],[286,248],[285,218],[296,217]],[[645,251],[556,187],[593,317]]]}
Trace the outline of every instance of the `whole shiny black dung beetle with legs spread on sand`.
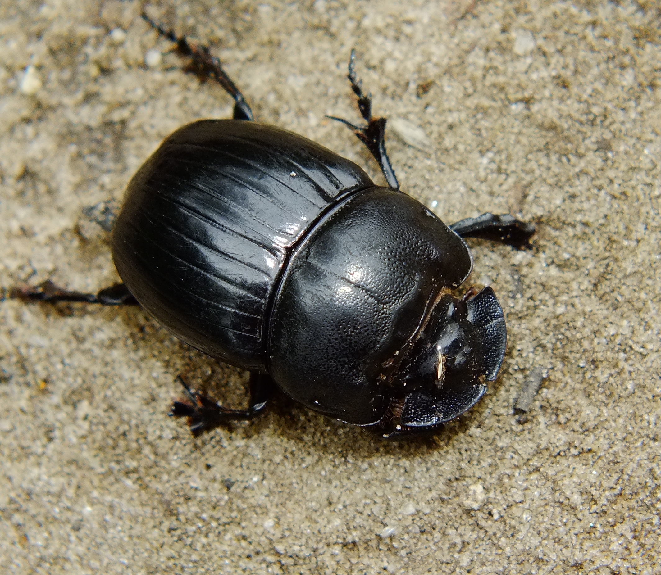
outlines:
{"label": "whole shiny black dung beetle with legs spread on sand", "polygon": [[98,294],[52,282],[32,301],[141,305],[178,339],[247,369],[249,408],[225,408],[180,379],[171,414],[199,434],[264,410],[275,387],[332,418],[384,437],[434,430],[473,406],[498,375],[503,312],[490,287],[453,290],[473,266],[465,237],[524,249],[535,231],[485,213],[449,227],[399,190],[385,118],[348,79],[368,147],[388,187],[360,167],[253,112],[217,58],[147,15],[235,100],[232,120],[200,120],[163,141],[128,184],[112,230],[124,283]]}

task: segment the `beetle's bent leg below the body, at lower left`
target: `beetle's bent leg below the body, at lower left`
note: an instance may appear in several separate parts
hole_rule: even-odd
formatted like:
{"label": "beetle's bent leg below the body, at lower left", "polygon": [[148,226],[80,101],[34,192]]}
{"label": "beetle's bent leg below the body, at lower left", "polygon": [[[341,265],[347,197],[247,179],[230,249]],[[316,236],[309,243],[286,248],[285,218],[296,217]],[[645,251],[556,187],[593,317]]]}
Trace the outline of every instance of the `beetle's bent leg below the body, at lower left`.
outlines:
{"label": "beetle's bent leg below the body, at lower left", "polygon": [[275,387],[268,375],[251,373],[248,409],[228,409],[217,404],[204,393],[190,389],[181,377],[177,377],[177,379],[184,388],[186,399],[175,401],[169,415],[188,418],[190,432],[196,437],[202,432],[212,430],[231,421],[252,419],[259,415],[266,408]]}

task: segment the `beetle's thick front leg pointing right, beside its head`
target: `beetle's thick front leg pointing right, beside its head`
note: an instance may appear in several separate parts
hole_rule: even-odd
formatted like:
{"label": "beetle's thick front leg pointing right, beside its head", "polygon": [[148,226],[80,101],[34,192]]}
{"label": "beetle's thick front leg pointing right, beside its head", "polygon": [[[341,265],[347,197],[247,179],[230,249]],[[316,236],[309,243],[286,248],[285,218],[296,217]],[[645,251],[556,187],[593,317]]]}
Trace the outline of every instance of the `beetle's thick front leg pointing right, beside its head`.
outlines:
{"label": "beetle's thick front leg pointing right, beside its head", "polygon": [[483,213],[453,223],[450,229],[461,237],[477,237],[510,245],[518,250],[529,249],[535,235],[535,224],[527,223],[509,214]]}

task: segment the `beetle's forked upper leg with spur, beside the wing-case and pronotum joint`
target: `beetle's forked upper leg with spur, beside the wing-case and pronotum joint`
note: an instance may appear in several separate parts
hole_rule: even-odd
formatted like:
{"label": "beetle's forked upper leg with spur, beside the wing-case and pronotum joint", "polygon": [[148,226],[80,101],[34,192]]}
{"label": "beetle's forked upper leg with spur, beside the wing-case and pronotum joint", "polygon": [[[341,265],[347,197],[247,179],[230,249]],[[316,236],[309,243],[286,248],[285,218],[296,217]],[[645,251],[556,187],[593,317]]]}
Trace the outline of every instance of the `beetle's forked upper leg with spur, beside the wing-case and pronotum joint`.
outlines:
{"label": "beetle's forked upper leg with spur, beside the wing-case and pronotum joint", "polygon": [[397,181],[397,176],[395,176],[395,171],[391,166],[388,154],[385,151],[385,124],[387,122],[386,118],[373,118],[371,115],[371,94],[365,94],[363,92],[362,82],[356,76],[356,50],[351,51],[351,56],[349,58],[349,73],[346,76],[350,83],[351,89],[354,91],[354,94],[358,96],[358,110],[360,110],[360,115],[368,123],[364,128],[359,126],[354,126],[350,122],[343,120],[342,118],[336,118],[334,116],[328,116],[331,120],[337,120],[342,122],[345,126],[351,128],[354,131],[354,134],[366,145],[369,152],[375,160],[379,163],[381,172],[385,177],[385,181],[388,186],[393,190],[399,190],[399,182]]}

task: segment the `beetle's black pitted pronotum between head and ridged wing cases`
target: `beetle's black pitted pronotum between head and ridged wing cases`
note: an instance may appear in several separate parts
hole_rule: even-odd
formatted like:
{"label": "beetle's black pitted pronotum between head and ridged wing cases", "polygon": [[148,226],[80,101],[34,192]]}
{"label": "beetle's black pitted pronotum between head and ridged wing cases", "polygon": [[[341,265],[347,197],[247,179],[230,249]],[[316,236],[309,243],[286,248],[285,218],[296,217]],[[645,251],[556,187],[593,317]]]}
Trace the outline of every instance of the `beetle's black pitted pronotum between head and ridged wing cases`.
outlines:
{"label": "beetle's black pitted pronotum between head and ridged wing cases", "polygon": [[389,360],[471,263],[463,240],[410,196],[354,194],[292,256],[272,314],[272,377],[309,408],[376,422],[391,399]]}

